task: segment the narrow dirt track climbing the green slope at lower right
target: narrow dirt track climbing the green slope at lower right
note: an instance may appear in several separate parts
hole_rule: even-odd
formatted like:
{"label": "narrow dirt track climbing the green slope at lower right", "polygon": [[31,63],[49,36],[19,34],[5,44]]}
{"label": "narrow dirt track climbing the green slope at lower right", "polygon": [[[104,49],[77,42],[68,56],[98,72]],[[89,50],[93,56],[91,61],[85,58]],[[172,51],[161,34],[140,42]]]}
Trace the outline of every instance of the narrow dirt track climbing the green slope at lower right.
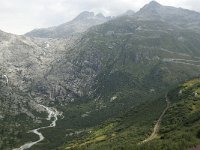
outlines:
{"label": "narrow dirt track climbing the green slope at lower right", "polygon": [[146,138],[144,141],[140,142],[139,144],[149,142],[149,141],[151,141],[151,140],[153,140],[153,139],[155,139],[157,137],[159,129],[160,129],[160,123],[162,121],[162,118],[165,115],[166,111],[169,109],[170,104],[171,104],[169,99],[168,99],[168,97],[167,97],[167,94],[165,96],[165,101],[167,103],[167,106],[165,107],[165,109],[163,110],[163,112],[160,115],[159,119],[157,120],[157,122],[156,122],[156,124],[155,124],[155,126],[153,128],[153,132],[151,133],[151,135],[148,138]]}

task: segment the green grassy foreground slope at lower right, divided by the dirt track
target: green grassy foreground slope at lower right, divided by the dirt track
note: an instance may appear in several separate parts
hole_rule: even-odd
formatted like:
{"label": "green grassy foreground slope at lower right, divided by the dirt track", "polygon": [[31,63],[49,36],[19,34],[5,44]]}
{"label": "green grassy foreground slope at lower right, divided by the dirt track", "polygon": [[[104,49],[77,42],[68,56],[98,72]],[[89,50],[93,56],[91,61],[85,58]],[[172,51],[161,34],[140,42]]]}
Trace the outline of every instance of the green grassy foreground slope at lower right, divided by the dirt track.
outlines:
{"label": "green grassy foreground slope at lower right, divided by the dirt track", "polygon": [[132,108],[123,117],[92,128],[88,136],[65,148],[184,150],[200,145],[200,79],[187,81],[168,95],[172,106],[164,115],[157,139],[138,145],[151,134],[154,121],[164,109],[164,99]]}

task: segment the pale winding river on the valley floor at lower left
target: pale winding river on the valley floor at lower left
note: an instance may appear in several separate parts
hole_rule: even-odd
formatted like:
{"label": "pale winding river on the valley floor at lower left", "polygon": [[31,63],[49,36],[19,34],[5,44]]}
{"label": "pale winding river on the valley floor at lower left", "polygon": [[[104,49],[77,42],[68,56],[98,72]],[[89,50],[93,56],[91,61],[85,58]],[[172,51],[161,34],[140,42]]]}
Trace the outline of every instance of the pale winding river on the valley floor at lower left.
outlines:
{"label": "pale winding river on the valley floor at lower left", "polygon": [[39,130],[46,129],[46,128],[52,128],[52,127],[56,126],[56,121],[58,120],[57,116],[59,115],[59,112],[55,108],[50,108],[50,107],[47,107],[47,106],[44,106],[41,104],[39,104],[39,105],[47,111],[47,113],[48,113],[47,120],[51,120],[51,118],[54,118],[53,121],[51,122],[51,124],[49,126],[40,127],[40,128],[28,131],[28,133],[32,132],[32,133],[37,134],[39,136],[39,140],[37,140],[35,142],[28,142],[28,143],[22,145],[20,148],[15,148],[13,150],[25,150],[25,149],[31,148],[33,145],[35,145],[45,139],[44,136],[42,135],[42,133],[39,132]]}

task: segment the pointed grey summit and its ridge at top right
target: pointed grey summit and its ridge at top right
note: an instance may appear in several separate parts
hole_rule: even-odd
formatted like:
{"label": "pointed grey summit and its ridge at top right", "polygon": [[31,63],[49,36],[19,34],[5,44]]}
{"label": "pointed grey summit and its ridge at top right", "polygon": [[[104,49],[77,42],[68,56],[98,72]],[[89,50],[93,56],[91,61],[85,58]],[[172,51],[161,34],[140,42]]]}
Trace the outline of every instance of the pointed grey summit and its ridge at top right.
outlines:
{"label": "pointed grey summit and its ridge at top right", "polygon": [[140,20],[160,20],[173,25],[197,25],[200,23],[200,13],[183,8],[163,6],[151,1],[141,8],[136,16]]}

